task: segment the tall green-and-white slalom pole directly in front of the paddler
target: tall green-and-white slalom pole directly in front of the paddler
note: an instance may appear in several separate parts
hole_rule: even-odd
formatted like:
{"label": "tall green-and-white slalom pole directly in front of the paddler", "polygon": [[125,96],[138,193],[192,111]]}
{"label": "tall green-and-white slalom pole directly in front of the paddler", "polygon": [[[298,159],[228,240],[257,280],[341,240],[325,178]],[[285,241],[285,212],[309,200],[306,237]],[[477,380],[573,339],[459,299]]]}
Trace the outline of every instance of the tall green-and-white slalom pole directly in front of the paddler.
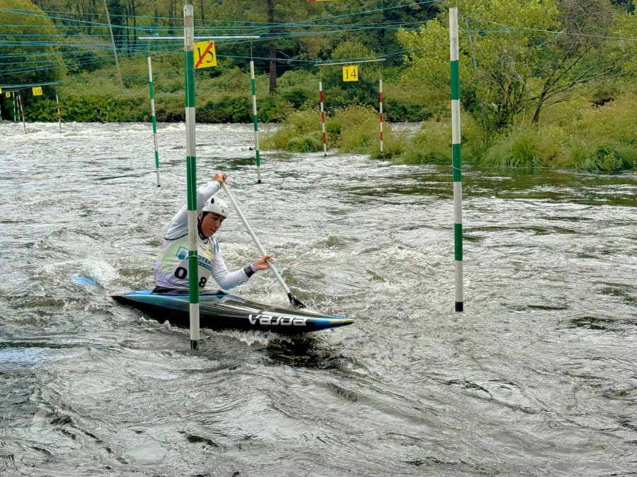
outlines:
{"label": "tall green-and-white slalom pole directly in front of the paddler", "polygon": [[193,6],[183,7],[185,73],[186,174],[188,176],[188,291],[190,349],[199,348],[199,264],[197,253],[197,161],[195,142],[195,17]]}

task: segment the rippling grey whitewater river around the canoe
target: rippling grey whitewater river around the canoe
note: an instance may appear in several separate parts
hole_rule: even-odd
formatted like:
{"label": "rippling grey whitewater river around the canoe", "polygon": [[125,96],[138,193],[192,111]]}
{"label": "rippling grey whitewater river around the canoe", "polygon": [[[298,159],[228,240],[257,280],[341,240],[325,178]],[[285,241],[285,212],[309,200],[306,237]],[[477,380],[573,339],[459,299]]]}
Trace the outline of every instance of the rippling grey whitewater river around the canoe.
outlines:
{"label": "rippling grey whitewater river around the canoe", "polygon": [[[188,330],[151,288],[185,202],[185,128],[0,124],[1,476],[637,475],[637,175],[467,169],[454,312],[450,167],[264,153],[197,129],[292,292],[355,324]],[[236,214],[231,269],[258,257]],[[79,285],[81,274],[98,281]],[[287,302],[271,273],[235,290]]]}

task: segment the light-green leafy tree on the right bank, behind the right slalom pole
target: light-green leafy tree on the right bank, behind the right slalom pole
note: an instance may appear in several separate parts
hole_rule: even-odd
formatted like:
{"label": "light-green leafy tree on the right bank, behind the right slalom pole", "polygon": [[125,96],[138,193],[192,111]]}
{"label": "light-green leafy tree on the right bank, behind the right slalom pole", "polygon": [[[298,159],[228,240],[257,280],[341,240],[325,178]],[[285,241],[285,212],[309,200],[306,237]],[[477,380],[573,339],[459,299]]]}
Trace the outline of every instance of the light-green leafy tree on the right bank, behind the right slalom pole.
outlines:
{"label": "light-green leafy tree on the right bank, behind the right slalom pole", "polygon": [[[487,129],[590,92],[617,67],[602,54],[608,0],[466,0],[460,25],[461,99]],[[418,32],[400,31],[408,76],[449,91],[448,13]],[[466,28],[469,27],[469,28]],[[469,37],[471,33],[471,37]]]}

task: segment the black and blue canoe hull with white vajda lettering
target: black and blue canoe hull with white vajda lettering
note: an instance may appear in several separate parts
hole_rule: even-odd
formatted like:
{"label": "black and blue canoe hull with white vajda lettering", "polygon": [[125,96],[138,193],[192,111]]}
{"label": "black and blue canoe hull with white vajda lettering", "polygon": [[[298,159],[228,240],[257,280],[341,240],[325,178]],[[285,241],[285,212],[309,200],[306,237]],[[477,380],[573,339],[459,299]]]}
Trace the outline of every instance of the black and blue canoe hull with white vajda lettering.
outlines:
{"label": "black and blue canoe hull with white vajda lettering", "polygon": [[[152,293],[141,290],[113,295],[113,300],[137,308],[160,322],[166,319],[177,326],[190,326],[188,294]],[[309,331],[352,324],[353,319],[328,317],[305,310],[263,305],[225,293],[199,296],[200,327],[209,329],[243,329],[301,334]]]}

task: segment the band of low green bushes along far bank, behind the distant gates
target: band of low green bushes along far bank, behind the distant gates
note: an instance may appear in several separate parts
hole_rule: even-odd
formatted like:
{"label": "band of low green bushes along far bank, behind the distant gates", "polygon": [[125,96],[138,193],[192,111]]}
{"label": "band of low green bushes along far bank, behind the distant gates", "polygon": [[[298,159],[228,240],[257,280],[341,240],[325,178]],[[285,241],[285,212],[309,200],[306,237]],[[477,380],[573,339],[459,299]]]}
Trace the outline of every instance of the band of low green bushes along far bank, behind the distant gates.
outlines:
{"label": "band of low green bushes along far bank, behind the distant gates", "polygon": [[[183,57],[180,55],[156,55],[152,59],[156,117],[159,122],[184,120]],[[219,69],[195,72],[197,121],[205,123],[252,122],[251,83],[248,69],[229,67],[220,59]],[[227,61],[226,61],[227,62]],[[150,100],[146,57],[132,57],[120,61],[122,81],[120,88],[114,66],[96,71],[81,71],[64,78],[59,85],[59,102],[62,119],[66,122],[148,122]],[[394,73],[392,71],[396,69]],[[396,121],[421,121],[432,117],[440,105],[430,103],[424,88],[411,88],[408,94],[401,85],[400,71],[388,69],[394,83],[385,85],[385,117]],[[318,71],[291,70],[277,79],[277,91],[268,92],[269,77],[265,66],[256,71],[257,108],[260,122],[282,122],[293,111],[308,110],[319,106]],[[389,81],[389,80],[388,80]],[[369,83],[367,107],[377,110],[377,83]],[[345,91],[352,86],[338,86]],[[338,90],[336,88],[336,90]],[[50,112],[55,90],[43,88],[43,95],[23,95],[25,119],[28,121],[55,121]],[[334,112],[350,106],[348,95],[325,96],[327,111]],[[48,101],[48,102],[47,102]],[[9,105],[0,102],[4,114]]]}

